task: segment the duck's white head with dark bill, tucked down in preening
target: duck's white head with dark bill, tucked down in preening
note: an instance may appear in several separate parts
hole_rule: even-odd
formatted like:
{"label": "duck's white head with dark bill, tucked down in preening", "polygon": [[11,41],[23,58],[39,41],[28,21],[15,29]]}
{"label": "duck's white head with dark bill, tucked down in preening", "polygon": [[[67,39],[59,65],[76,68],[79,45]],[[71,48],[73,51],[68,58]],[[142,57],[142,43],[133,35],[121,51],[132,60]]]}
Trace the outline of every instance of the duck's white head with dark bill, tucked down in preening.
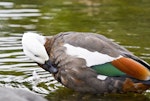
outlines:
{"label": "duck's white head with dark bill, tucked down in preening", "polygon": [[39,64],[43,69],[50,73],[56,73],[57,69],[52,66],[44,44],[46,38],[36,33],[24,33],[22,37],[23,51],[26,56]]}

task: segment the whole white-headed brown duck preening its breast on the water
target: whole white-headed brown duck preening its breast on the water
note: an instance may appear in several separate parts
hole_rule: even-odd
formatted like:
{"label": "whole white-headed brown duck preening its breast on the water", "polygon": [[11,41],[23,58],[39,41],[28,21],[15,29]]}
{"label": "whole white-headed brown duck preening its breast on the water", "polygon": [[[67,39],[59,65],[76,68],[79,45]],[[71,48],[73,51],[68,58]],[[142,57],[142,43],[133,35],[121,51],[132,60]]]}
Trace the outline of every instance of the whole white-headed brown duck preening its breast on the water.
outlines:
{"label": "whole white-headed brown duck preening its breast on the water", "polygon": [[150,88],[150,65],[104,35],[26,32],[25,55],[67,88],[80,93],[143,93]]}

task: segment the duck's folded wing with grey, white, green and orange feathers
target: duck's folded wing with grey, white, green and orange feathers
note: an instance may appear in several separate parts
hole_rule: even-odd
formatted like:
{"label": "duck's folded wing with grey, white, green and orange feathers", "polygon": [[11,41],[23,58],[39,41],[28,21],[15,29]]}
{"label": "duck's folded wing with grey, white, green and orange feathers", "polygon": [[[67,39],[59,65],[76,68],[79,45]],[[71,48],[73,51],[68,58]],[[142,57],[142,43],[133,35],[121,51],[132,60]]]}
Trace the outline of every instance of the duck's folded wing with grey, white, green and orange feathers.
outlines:
{"label": "duck's folded wing with grey, white, green and orange feathers", "polygon": [[82,58],[88,67],[107,76],[129,75],[149,80],[149,64],[122,46],[93,33],[71,33],[64,36],[66,53]]}

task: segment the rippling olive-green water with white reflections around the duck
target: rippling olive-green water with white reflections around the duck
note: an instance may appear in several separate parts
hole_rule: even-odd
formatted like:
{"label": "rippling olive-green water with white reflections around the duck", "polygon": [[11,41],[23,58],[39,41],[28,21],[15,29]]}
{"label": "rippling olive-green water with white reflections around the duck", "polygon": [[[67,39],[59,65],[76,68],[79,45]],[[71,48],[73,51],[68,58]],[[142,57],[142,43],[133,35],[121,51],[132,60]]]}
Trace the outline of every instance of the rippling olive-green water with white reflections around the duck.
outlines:
{"label": "rippling olive-green water with white reflections around the duck", "polygon": [[0,86],[46,94],[51,101],[147,100],[149,93],[81,98],[24,55],[21,37],[26,31],[44,35],[64,31],[102,33],[150,63],[149,6],[149,0],[1,0]]}

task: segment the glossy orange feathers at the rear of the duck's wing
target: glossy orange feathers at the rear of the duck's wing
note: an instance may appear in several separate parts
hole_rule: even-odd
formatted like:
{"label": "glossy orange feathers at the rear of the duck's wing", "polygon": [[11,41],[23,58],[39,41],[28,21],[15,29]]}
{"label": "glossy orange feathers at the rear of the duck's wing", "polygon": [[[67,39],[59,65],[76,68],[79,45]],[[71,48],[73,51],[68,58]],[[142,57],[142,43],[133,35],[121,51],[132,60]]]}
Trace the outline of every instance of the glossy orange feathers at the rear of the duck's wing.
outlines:
{"label": "glossy orange feathers at the rear of the duck's wing", "polygon": [[130,58],[121,57],[112,61],[112,64],[131,77],[139,80],[150,80],[150,71]]}

